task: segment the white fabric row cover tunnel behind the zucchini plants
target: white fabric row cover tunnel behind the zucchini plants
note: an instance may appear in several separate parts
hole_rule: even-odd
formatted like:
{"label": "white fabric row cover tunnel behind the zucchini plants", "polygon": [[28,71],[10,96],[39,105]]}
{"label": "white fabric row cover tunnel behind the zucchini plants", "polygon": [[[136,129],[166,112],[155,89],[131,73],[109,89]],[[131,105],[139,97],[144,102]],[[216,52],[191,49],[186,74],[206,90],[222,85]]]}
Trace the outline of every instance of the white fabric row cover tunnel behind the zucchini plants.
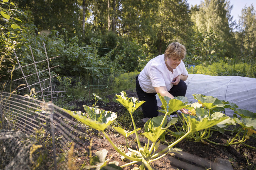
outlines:
{"label": "white fabric row cover tunnel behind the zucchini plants", "polygon": [[[239,109],[256,113],[255,78],[189,74],[185,82],[187,84],[186,97],[189,102],[197,102],[193,94],[202,94],[235,103]],[[160,100],[158,100],[158,105],[162,105]],[[227,116],[233,116],[233,113],[231,109],[225,111]]]}

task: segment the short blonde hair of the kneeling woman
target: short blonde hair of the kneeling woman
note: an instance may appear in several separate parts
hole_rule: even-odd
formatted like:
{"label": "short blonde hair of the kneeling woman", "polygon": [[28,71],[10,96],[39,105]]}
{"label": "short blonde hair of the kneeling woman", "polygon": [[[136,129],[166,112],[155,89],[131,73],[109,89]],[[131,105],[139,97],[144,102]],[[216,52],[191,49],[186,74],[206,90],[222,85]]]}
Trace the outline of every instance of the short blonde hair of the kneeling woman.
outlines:
{"label": "short blonde hair of the kneeling woman", "polygon": [[177,57],[182,60],[186,54],[186,48],[184,45],[180,44],[179,42],[173,42],[166,48],[164,57]]}

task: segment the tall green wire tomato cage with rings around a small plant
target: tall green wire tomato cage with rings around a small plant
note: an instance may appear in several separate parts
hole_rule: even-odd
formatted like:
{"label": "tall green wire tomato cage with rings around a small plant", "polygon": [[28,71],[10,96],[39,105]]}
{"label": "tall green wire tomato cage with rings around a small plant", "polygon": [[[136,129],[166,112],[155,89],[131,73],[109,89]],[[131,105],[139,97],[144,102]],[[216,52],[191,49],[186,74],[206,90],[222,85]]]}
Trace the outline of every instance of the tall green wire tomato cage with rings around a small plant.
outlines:
{"label": "tall green wire tomato cage with rings around a small plant", "polygon": [[105,107],[107,98],[103,99],[103,95],[108,95],[109,74],[112,49],[82,47],[86,51],[86,69],[88,84],[85,86],[88,89],[89,107]]}

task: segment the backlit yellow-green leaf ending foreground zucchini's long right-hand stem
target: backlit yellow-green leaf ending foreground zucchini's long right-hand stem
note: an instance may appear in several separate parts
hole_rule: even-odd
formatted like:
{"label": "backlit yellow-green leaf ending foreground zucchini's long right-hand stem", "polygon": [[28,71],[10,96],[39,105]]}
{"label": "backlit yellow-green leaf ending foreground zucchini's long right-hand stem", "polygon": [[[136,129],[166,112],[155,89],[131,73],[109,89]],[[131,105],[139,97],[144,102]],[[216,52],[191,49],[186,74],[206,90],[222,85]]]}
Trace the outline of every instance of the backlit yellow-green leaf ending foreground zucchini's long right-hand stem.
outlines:
{"label": "backlit yellow-green leaf ending foreground zucchini's long right-hand stem", "polygon": [[210,128],[219,122],[227,119],[228,117],[209,117],[209,115],[203,116],[190,116],[188,114],[183,114],[184,120],[186,121],[191,132],[196,132],[199,130]]}

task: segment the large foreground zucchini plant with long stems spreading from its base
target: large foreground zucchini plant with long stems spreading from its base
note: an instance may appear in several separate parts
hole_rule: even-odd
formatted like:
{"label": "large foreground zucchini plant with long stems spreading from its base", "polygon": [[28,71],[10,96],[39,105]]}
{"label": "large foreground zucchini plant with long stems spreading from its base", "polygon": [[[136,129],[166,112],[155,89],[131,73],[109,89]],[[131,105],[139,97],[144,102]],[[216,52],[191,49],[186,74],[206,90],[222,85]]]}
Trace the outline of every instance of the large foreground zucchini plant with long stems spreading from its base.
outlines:
{"label": "large foreground zucchini plant with long stems spreading from its base", "polygon": [[178,118],[174,118],[167,124],[167,116],[169,116],[172,112],[176,110],[190,107],[190,105],[186,104],[186,101],[187,101],[186,98],[179,97],[176,99],[170,99],[168,97],[163,97],[160,94],[158,95],[163,104],[162,106],[163,109],[161,111],[164,112],[165,115],[151,118],[145,123],[144,125],[145,130],[144,130],[144,133],[142,133],[148,139],[148,142],[145,144],[140,142],[140,138],[138,134],[138,130],[140,130],[140,128],[136,129],[136,125],[132,115],[134,111],[138,107],[140,107],[140,105],[143,104],[145,101],[138,101],[135,97],[128,98],[124,91],[121,92],[121,95],[116,95],[117,97],[116,100],[119,101],[122,105],[124,105],[124,107],[130,113],[134,130],[127,131],[125,129],[122,129],[120,127],[115,127],[115,126],[113,126],[113,128],[117,132],[119,132],[121,135],[123,135],[126,141],[129,135],[135,133],[135,136],[136,136],[137,148],[136,149],[130,148],[127,142],[127,148],[129,150],[127,153],[121,151],[115,145],[115,143],[111,141],[111,139],[108,137],[108,135],[104,131],[107,128],[107,126],[109,126],[117,118],[116,113],[100,110],[98,108],[91,108],[86,105],[83,105],[83,107],[87,112],[87,114],[82,112],[69,111],[65,109],[63,110],[66,113],[73,116],[74,118],[76,118],[77,120],[81,121],[82,123],[96,130],[101,131],[103,135],[106,137],[106,139],[115,148],[115,150],[125,159],[128,159],[131,161],[127,164],[121,165],[120,166],[121,168],[126,167],[128,165],[135,164],[135,163],[139,163],[140,166],[137,169],[141,169],[141,170],[145,168],[152,170],[153,168],[150,165],[151,162],[161,159],[171,151],[172,152],[177,151],[177,149],[173,147],[177,143],[179,143],[182,139],[186,138],[187,135],[194,133],[196,131],[210,128],[211,126],[214,126],[228,118],[225,116],[210,117],[208,115],[204,115],[199,118],[196,118],[195,116],[182,114],[184,121],[186,121],[186,129],[187,129],[186,132],[182,133],[179,138],[177,138],[174,142],[168,144],[168,146],[163,150],[157,151],[159,148],[161,139],[164,137],[166,133],[170,132],[168,128],[171,125],[174,125],[178,121]]}

